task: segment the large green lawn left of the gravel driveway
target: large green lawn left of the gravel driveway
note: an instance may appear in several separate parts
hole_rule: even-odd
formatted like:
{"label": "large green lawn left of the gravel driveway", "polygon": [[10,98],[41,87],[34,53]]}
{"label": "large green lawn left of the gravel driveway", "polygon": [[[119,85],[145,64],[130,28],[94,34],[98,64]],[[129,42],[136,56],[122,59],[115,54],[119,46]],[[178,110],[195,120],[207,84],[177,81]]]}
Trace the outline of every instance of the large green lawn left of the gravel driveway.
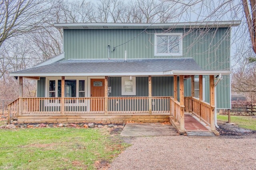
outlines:
{"label": "large green lawn left of the gravel driveway", "polygon": [[128,146],[118,137],[107,129],[0,129],[0,169],[93,170]]}

